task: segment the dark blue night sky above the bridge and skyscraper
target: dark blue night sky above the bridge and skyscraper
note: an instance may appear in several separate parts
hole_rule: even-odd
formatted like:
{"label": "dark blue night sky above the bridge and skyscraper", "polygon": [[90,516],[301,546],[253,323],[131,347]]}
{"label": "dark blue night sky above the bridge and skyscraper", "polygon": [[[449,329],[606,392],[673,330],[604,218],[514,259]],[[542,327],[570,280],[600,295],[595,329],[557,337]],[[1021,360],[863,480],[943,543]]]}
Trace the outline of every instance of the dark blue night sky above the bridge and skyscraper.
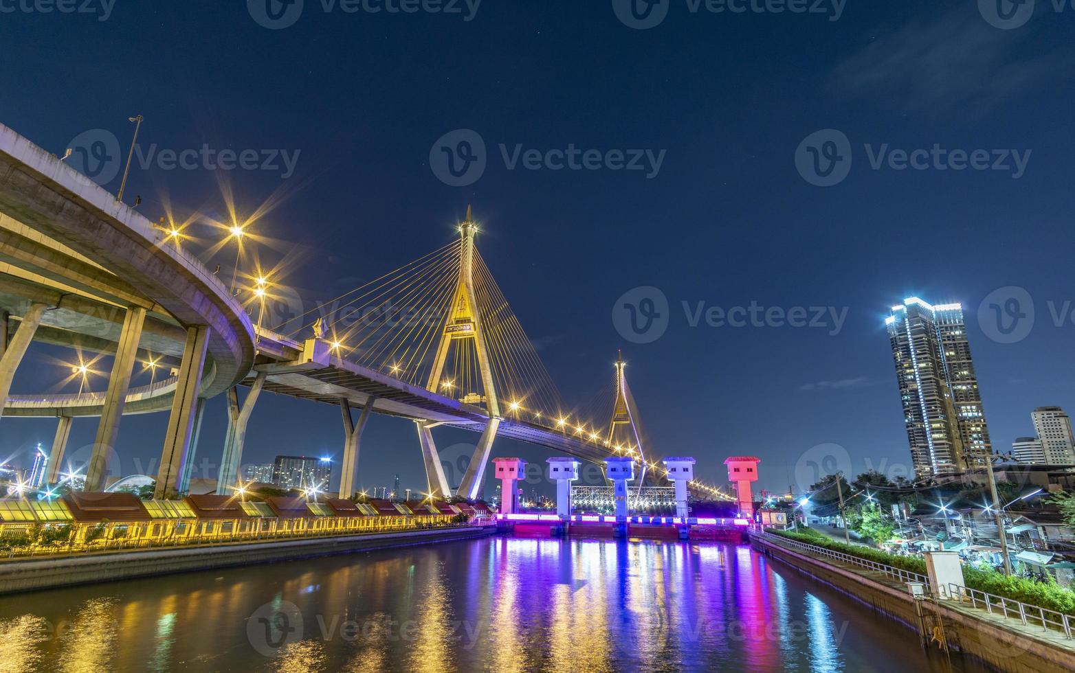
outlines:
{"label": "dark blue night sky above the bridge and skyscraper", "polygon": [[[811,452],[825,443],[846,448],[855,473],[905,474],[884,318],[909,295],[963,303],[995,449],[1033,434],[1034,407],[1075,409],[1070,8],[1038,2],[1008,30],[974,0],[850,0],[838,20],[829,3],[829,14],[730,14],[672,0],[662,23],[636,30],[610,0],[486,0],[473,16],[462,3],[462,15],[352,14],[306,0],[293,26],[272,30],[254,19],[259,1],[116,0],[106,20],[103,10],[2,13],[0,121],[58,155],[92,129],[114,133],[126,152],[127,118],[138,114],[143,150],[299,151],[286,179],[278,170],[224,179],[241,213],[278,201],[255,226],[273,239],[256,253],[285,262],[281,282],[307,309],[449,243],[473,204],[482,254],[564,398],[583,404],[606,387],[624,348],[651,455],[697,456],[712,483],[725,483],[726,456],[750,454],[762,459],[761,485],[786,491],[811,460],[842,455]],[[19,5],[0,2],[9,6]],[[430,166],[434,143],[457,129],[487,145],[485,173],[465,187]],[[847,136],[852,163],[846,179],[817,187],[796,157],[825,129]],[[871,152],[886,144],[1031,155],[1019,177],[1012,159],[1009,170],[900,171],[887,160],[874,170]],[[508,155],[518,145],[665,153],[659,171],[508,170],[501,145]],[[219,217],[220,178],[135,163],[128,202],[142,195],[150,220],[166,203],[181,218]],[[204,239],[192,250],[219,238],[199,224],[190,232]],[[232,250],[205,261],[227,268]],[[985,332],[978,308],[1013,286],[1029,293],[1036,320],[1026,338],[1001,343],[988,328],[992,301]],[[648,343],[625,338],[613,319],[639,287],[669,302],[668,331]],[[736,328],[704,317],[691,326],[686,314],[699,303],[751,302],[846,307],[846,321]],[[69,371],[57,359],[70,357],[35,346],[13,392],[59,390]],[[210,403],[199,458],[219,459],[224,408]],[[2,451],[23,464],[55,427],[0,423]],[[96,423],[75,422],[69,451],[92,441]],[[166,423],[124,420],[120,471],[159,456]],[[448,458],[476,439],[434,436]],[[342,442],[335,407],[269,395],[244,463],[339,457]],[[551,454],[502,441],[493,455]],[[425,486],[414,428],[374,419],[359,483],[389,485],[397,472],[404,487]]]}

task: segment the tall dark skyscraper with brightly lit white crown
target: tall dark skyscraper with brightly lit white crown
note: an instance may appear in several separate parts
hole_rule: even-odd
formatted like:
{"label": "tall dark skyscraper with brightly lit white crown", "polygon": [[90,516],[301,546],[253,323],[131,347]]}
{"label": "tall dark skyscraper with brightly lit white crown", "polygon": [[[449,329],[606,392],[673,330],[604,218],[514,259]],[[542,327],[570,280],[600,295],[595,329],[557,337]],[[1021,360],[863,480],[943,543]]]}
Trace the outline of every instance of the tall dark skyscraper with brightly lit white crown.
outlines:
{"label": "tall dark skyscraper with brightly lit white crown", "polygon": [[909,297],[885,320],[918,478],[960,472],[992,455],[959,304]]}

